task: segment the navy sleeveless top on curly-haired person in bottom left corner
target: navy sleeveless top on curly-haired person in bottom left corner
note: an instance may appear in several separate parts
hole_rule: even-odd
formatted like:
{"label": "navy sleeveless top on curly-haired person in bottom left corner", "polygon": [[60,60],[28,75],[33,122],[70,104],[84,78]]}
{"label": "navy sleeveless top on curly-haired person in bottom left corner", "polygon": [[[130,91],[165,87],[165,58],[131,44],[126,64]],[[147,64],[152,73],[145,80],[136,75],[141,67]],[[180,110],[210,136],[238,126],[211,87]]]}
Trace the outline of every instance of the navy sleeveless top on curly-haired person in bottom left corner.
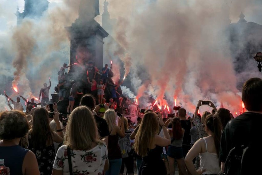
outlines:
{"label": "navy sleeveless top on curly-haired person in bottom left corner", "polygon": [[19,145],[0,146],[0,159],[4,159],[5,166],[10,168],[11,174],[22,175],[22,165],[28,151]]}

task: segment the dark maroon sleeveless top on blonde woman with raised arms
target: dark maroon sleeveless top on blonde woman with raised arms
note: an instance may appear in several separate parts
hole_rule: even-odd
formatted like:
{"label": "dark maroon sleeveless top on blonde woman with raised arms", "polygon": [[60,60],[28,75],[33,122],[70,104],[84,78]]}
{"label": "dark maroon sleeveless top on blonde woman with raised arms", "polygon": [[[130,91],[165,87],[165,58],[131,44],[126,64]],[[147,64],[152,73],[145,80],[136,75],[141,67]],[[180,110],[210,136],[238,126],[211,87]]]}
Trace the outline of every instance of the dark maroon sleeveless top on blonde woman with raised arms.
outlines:
{"label": "dark maroon sleeveless top on blonde woman with raised arms", "polygon": [[122,153],[118,145],[118,135],[109,134],[108,136],[108,159],[113,160],[113,159],[121,159],[121,158],[122,158]]}

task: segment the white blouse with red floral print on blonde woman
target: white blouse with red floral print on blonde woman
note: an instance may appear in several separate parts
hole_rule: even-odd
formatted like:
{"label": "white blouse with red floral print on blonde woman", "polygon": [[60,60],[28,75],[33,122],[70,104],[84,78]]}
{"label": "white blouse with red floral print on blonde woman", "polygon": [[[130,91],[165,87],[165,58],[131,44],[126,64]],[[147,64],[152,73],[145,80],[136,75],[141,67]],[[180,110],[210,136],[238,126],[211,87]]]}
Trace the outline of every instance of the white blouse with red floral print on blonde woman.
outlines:
{"label": "white blouse with red floral print on blonde woman", "polygon": [[[90,150],[71,150],[73,175],[102,175],[108,157],[106,144],[97,144]],[[69,175],[67,146],[61,146],[56,154],[53,169]]]}

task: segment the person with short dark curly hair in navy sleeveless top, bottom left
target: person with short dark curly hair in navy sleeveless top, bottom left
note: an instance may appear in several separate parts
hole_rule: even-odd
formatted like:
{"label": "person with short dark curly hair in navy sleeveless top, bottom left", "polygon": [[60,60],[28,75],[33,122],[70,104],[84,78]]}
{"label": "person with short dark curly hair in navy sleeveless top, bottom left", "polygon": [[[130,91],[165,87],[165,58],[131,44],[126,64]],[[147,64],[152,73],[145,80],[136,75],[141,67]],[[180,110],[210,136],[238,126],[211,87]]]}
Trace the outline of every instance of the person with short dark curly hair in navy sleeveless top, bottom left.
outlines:
{"label": "person with short dark curly hair in navy sleeveless top, bottom left", "polygon": [[22,112],[6,111],[0,115],[0,157],[5,160],[10,174],[40,174],[34,153],[18,145],[20,138],[26,135],[29,128]]}

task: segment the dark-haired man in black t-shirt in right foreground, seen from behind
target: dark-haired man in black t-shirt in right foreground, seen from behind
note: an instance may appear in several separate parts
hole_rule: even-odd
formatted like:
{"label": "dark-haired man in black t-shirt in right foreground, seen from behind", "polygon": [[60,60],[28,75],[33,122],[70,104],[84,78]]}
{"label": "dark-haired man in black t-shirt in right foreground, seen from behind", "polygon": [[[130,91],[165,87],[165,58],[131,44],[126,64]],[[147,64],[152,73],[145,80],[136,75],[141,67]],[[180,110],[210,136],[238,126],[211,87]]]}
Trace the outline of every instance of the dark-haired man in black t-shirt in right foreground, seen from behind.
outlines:
{"label": "dark-haired man in black t-shirt in right foreground, seen from behind", "polygon": [[[228,124],[224,128],[220,142],[220,161],[221,169],[224,172],[224,165],[229,151],[235,146],[246,148],[250,142],[255,143],[257,149],[252,158],[248,160],[248,174],[258,174],[260,172],[262,150],[259,148],[259,134],[262,119],[262,80],[260,78],[251,78],[246,81],[242,89],[242,101],[244,102],[246,112],[231,120],[231,127]],[[231,130],[232,129],[232,130]],[[247,165],[248,164],[248,165]],[[225,172],[227,173],[227,172]]]}

